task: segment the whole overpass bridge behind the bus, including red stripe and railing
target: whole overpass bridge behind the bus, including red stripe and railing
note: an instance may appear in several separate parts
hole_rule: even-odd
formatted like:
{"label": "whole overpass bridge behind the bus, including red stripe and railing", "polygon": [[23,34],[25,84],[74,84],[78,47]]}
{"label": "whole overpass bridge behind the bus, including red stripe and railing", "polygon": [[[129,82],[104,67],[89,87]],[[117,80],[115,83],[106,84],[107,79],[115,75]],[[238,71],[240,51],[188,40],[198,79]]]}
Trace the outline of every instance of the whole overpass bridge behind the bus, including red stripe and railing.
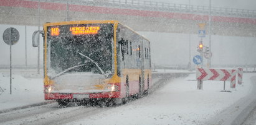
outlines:
{"label": "whole overpass bridge behind the bus, including red stripe and railing", "polygon": [[[42,25],[64,20],[120,20],[136,31],[208,30],[209,7],[137,0],[1,0],[0,24]],[[256,11],[212,7],[211,33],[256,37]]]}

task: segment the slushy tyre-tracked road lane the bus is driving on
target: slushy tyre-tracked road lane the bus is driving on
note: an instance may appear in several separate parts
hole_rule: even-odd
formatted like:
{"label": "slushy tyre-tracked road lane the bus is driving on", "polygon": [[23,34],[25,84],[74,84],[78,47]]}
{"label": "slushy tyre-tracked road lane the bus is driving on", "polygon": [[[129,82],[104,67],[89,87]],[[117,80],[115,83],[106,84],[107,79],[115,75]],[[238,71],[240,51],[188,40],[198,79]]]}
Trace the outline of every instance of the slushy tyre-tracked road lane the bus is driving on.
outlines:
{"label": "slushy tyre-tracked road lane the bus is driving on", "polygon": [[[184,77],[184,73],[169,73],[154,75],[150,93],[162,87],[166,81],[175,77]],[[0,124],[65,124],[77,119],[87,118],[97,113],[115,108],[100,108],[95,106],[58,107],[57,103],[32,108],[17,109],[0,114]],[[125,105],[121,105],[125,106]]]}

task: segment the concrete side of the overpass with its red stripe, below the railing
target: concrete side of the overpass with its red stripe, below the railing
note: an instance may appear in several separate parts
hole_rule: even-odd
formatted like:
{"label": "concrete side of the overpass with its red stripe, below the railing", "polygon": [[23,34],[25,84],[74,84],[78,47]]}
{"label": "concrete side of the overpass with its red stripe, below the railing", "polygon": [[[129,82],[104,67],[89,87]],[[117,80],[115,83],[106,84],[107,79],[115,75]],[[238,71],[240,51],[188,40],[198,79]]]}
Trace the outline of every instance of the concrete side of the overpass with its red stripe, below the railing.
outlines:
{"label": "concrete side of the overpass with its red stripe, below the railing", "polygon": [[[38,2],[4,0],[0,2],[0,24],[38,25]],[[99,6],[69,4],[70,20],[119,20],[141,32],[194,33],[199,23],[206,23],[207,15],[176,12],[143,11]],[[64,21],[67,6],[62,3],[40,2],[40,25],[45,22]],[[212,16],[213,35],[256,37],[256,19]]]}

